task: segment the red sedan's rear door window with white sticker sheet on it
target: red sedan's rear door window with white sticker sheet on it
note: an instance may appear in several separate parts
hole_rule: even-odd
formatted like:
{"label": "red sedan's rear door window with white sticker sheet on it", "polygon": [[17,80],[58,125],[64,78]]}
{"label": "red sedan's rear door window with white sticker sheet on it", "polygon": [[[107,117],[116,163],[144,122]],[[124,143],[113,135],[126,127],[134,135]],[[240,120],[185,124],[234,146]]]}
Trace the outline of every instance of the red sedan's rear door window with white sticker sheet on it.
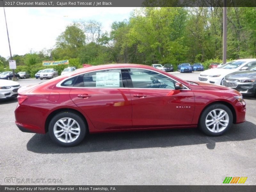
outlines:
{"label": "red sedan's rear door window with white sticker sheet on it", "polygon": [[82,74],[77,77],[74,87],[124,87],[121,69],[109,69]]}

